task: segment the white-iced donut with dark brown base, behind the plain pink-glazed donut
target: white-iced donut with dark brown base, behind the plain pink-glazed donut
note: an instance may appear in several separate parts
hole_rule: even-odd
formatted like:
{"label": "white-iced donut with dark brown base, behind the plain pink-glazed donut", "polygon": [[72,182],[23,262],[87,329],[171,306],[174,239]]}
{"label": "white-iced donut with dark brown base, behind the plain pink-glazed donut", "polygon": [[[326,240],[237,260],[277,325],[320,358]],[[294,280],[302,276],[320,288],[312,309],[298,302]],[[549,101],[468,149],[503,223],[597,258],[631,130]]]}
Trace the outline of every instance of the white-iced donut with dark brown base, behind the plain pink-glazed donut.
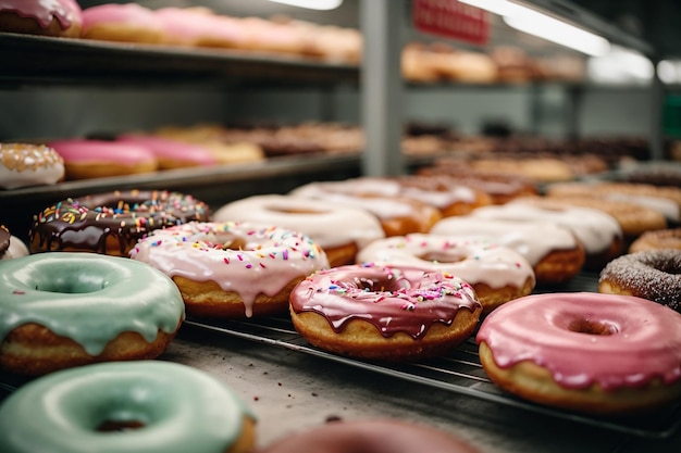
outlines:
{"label": "white-iced donut with dark brown base, behind the plain pink-glazed donut", "polygon": [[542,204],[534,198],[523,198],[502,206],[484,206],[471,215],[487,222],[552,222],[572,231],[584,247],[586,268],[600,268],[624,251],[622,229],[611,215],[591,207]]}

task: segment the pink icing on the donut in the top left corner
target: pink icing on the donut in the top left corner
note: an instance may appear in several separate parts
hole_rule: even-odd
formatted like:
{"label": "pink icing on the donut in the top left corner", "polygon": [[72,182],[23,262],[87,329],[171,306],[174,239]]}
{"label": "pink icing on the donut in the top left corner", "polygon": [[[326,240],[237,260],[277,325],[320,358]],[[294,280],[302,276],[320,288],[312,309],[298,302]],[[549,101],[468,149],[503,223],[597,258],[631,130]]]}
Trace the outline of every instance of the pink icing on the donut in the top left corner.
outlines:
{"label": "pink icing on the donut in the top left corner", "polygon": [[53,18],[57,18],[62,29],[83,20],[81,7],[73,0],[0,0],[0,11],[34,18],[42,28],[48,28]]}

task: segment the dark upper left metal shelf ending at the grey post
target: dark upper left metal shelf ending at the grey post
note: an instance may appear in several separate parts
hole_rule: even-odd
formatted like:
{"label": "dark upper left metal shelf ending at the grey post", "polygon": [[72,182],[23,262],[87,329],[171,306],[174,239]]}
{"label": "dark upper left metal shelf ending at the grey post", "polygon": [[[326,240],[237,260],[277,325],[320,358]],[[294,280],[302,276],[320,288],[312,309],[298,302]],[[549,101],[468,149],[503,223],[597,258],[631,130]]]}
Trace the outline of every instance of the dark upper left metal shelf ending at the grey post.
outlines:
{"label": "dark upper left metal shelf ending at the grey post", "polygon": [[357,65],[227,49],[50,38],[0,33],[0,84],[337,84],[357,83]]}

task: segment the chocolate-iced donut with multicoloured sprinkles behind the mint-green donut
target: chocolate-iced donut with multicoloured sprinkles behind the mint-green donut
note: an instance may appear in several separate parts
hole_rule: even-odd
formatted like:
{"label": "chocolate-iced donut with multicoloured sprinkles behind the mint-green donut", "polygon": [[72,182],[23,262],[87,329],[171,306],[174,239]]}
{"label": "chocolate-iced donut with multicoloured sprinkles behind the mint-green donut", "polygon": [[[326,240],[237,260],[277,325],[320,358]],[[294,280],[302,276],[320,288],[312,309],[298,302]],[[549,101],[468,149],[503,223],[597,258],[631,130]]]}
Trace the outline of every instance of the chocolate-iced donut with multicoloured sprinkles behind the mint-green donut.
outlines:
{"label": "chocolate-iced donut with multicoloured sprinkles behind the mint-green donut", "polygon": [[30,250],[127,256],[149,231],[208,216],[206,203],[178,192],[128,190],[67,199],[34,215]]}

